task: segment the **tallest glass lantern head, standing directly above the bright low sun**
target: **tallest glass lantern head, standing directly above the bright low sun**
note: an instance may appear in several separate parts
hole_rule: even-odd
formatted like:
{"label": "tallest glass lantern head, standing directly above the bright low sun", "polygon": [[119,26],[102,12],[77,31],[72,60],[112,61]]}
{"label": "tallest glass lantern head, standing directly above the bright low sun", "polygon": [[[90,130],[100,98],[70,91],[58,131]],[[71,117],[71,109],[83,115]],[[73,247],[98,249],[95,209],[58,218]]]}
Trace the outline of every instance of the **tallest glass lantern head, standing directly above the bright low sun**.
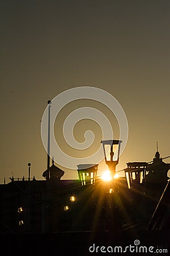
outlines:
{"label": "tallest glass lantern head, standing directly above the bright low sun", "polygon": [[[111,176],[114,177],[114,175],[116,174],[116,166],[118,164],[118,160],[119,160],[119,156],[120,156],[120,145],[121,145],[122,141],[119,140],[115,140],[115,139],[110,139],[107,141],[101,141],[101,143],[103,144],[103,150],[104,150],[104,156],[105,156],[105,163],[107,164],[107,166],[109,167],[109,171],[111,172]],[[117,152],[117,156],[114,156],[113,152],[113,146],[116,145],[116,152]],[[108,154],[107,154],[107,147],[109,146],[109,151],[110,151],[110,156],[108,159]]]}

